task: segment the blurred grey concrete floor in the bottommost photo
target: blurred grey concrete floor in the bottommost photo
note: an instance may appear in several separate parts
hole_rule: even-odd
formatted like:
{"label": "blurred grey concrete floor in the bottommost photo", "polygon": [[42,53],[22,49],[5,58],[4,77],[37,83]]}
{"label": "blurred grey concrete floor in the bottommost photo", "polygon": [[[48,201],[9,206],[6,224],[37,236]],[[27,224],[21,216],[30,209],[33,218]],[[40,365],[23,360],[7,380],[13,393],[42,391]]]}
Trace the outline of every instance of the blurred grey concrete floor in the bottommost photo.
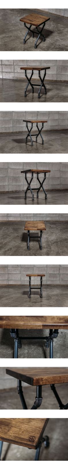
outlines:
{"label": "blurred grey concrete floor in the bottommost photo", "polygon": [[[37,412],[36,412],[37,417]],[[23,420],[22,420],[23,424]],[[41,446],[41,461],[68,461],[68,419],[50,418],[48,426],[44,431],[44,436],[49,437],[49,447]],[[35,450],[20,447],[4,442],[2,447],[1,460],[32,461],[35,457]]]}

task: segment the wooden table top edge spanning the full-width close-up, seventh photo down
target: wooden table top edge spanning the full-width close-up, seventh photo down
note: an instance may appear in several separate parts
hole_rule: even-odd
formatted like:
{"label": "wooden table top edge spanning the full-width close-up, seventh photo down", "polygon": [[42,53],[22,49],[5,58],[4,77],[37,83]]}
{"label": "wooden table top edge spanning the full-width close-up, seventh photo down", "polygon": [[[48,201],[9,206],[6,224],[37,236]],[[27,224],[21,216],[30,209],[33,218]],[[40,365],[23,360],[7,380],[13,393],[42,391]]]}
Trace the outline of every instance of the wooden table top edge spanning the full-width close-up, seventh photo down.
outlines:
{"label": "wooden table top edge spanning the full-width close-up, seventh photo down", "polygon": [[68,329],[68,316],[64,315],[0,315],[0,328]]}

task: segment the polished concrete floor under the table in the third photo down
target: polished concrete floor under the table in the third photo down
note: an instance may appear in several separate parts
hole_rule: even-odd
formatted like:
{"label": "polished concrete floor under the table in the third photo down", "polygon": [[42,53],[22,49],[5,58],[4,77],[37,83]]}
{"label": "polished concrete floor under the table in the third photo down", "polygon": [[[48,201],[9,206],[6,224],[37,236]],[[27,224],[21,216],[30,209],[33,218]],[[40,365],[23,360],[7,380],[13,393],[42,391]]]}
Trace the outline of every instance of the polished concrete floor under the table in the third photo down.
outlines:
{"label": "polished concrete floor under the table in the third photo down", "polygon": [[44,145],[41,143],[41,137],[38,137],[37,143],[33,137],[33,146],[30,138],[27,139],[27,132],[16,134],[0,134],[0,153],[68,153],[68,130],[42,132]]}

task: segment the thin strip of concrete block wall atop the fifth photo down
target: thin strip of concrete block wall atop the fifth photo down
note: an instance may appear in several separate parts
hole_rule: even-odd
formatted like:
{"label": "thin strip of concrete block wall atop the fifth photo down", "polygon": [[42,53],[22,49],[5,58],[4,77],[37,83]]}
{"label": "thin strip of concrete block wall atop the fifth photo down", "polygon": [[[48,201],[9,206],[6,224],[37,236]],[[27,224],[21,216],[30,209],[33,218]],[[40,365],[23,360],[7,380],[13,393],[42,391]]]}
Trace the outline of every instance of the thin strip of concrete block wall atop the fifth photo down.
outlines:
{"label": "thin strip of concrete block wall atop the fifth photo down", "polygon": [[68,213],[0,213],[0,223],[8,221],[68,221]]}

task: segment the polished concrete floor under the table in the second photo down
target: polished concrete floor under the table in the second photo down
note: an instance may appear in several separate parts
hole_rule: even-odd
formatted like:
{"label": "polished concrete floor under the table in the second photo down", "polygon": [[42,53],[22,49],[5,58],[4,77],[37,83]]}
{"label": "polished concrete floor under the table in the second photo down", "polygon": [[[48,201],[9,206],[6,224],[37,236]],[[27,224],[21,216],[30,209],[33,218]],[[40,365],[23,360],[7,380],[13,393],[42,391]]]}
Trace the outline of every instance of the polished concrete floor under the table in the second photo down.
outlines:
{"label": "polished concrete floor under the table in the second photo down", "polygon": [[[24,72],[25,73],[25,72]],[[41,85],[40,80],[33,80],[31,82]],[[54,83],[47,82],[47,95],[44,94],[44,89],[41,89],[41,99],[38,99],[39,88],[35,86],[34,94],[32,94],[31,86],[27,89],[27,97],[24,97],[24,89],[26,88],[27,80],[7,80],[0,79],[0,102],[68,102],[68,82]]]}

